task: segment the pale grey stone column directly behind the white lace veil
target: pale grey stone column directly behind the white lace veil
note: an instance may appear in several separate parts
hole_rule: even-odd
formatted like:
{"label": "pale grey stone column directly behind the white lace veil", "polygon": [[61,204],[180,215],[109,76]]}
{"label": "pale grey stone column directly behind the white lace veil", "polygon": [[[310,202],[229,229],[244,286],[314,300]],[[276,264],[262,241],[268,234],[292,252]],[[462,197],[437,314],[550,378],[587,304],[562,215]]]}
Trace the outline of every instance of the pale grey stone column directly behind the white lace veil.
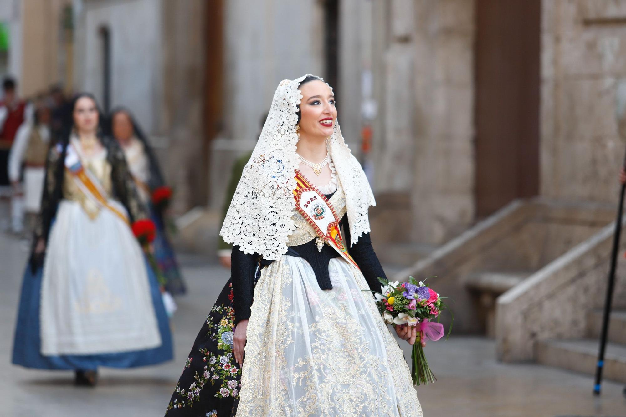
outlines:
{"label": "pale grey stone column directly behind the white lace veil", "polygon": [[228,0],[224,12],[224,125],[211,145],[212,209],[222,207],[233,161],[254,148],[280,81],[323,76],[324,68],[321,2]]}

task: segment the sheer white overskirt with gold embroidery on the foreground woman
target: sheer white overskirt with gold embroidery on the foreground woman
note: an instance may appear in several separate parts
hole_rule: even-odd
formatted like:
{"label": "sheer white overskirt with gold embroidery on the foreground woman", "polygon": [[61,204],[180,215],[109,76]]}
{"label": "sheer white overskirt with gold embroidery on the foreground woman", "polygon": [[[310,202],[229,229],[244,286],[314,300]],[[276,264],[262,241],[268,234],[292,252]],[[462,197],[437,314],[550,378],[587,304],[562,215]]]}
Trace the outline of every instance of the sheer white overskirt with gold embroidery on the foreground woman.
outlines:
{"label": "sheer white overskirt with gold embroidery on the foreground woman", "polygon": [[284,255],[255,286],[238,416],[421,416],[408,365],[361,272],[332,259],[322,290]]}

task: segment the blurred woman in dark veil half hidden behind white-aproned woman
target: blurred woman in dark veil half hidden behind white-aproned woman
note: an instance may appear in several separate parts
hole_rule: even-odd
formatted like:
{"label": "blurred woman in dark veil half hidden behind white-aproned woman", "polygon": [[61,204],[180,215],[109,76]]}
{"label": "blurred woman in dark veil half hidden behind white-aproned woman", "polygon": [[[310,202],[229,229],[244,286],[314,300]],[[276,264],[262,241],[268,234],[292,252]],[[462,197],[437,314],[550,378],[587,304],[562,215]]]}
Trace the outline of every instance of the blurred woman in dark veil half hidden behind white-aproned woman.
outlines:
{"label": "blurred woman in dark veil half hidden behind white-aproned woman", "polygon": [[156,155],[148,143],[148,138],[137,124],[130,111],[116,108],[109,118],[110,135],[120,143],[128,168],[137,185],[139,197],[150,209],[150,215],[156,225],[156,239],[153,242],[154,254],[165,278],[165,289],[172,294],[184,294],[185,284],[178,268],[172,245],[167,239],[165,227],[167,217],[165,205],[153,204],[153,193],[163,190],[165,181],[156,160]]}

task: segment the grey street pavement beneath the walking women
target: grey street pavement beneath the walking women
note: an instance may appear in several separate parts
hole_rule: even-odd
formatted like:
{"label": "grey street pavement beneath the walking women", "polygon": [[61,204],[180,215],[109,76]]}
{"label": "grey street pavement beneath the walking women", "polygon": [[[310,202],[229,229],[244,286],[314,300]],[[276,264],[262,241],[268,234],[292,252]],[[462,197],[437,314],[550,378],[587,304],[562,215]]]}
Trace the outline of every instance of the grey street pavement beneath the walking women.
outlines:
{"label": "grey street pavement beneath the walking women", "polygon": [[[193,340],[228,272],[198,255],[180,261],[188,294],[178,297],[172,320],[175,359],[143,369],[100,369],[96,388],[76,388],[73,373],[13,366],[11,349],[19,288],[28,245],[0,233],[0,416],[154,417],[163,416]],[[460,312],[458,312],[460,314]],[[402,342],[405,355],[409,348]],[[495,343],[481,337],[452,336],[426,348],[438,381],[418,387],[424,415],[431,416],[622,416],[622,386],[606,382],[592,396],[589,376],[534,364],[495,361]]]}

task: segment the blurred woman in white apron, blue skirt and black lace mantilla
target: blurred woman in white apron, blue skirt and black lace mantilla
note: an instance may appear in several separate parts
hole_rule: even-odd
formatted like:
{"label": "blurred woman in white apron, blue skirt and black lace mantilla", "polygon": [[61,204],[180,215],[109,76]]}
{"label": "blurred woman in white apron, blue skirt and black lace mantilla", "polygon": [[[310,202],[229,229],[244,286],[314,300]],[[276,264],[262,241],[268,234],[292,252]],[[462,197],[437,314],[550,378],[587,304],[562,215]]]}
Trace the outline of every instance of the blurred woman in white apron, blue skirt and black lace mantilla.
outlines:
{"label": "blurred woman in white apron, blue skirt and black lace mantilla", "polygon": [[172,359],[172,336],[154,273],[133,236],[148,217],[121,148],[100,133],[91,95],[51,147],[33,254],[24,273],[13,363],[71,369],[96,384],[97,368]]}

